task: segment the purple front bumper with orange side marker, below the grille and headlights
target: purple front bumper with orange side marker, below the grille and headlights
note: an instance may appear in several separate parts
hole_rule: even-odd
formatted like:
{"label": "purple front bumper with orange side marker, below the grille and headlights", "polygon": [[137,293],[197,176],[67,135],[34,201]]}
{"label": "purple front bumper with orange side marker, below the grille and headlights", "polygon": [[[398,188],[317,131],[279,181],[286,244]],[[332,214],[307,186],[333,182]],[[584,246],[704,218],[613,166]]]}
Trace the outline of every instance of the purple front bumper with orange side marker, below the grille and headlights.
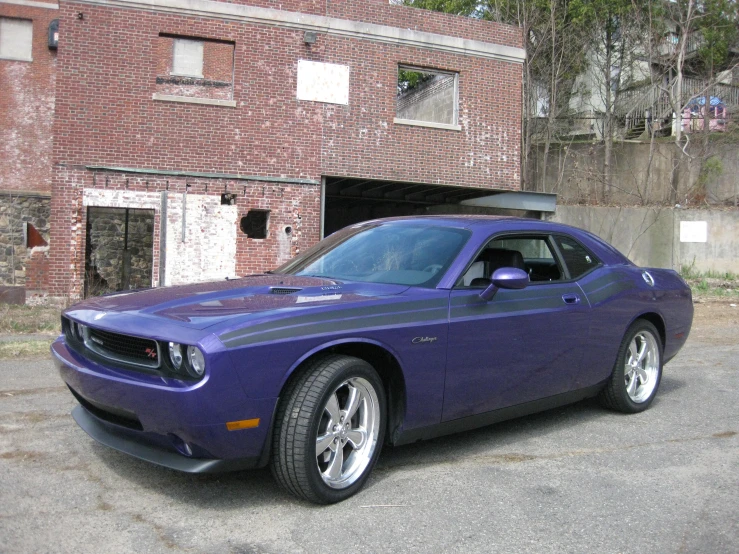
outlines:
{"label": "purple front bumper with orange side marker, below the grille and headlights", "polygon": [[[51,352],[80,401],[73,417],[93,439],[137,458],[186,472],[264,465],[276,398],[249,398],[229,367],[193,383],[102,366],[62,339]],[[226,423],[259,418],[255,428]]]}

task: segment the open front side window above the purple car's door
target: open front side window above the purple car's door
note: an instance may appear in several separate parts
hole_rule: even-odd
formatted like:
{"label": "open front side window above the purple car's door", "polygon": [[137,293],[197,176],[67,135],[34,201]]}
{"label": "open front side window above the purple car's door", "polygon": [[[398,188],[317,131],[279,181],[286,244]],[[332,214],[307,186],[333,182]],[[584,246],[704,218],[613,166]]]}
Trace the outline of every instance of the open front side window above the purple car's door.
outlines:
{"label": "open front side window above the purple car's door", "polygon": [[529,274],[532,282],[562,278],[557,259],[543,236],[505,236],[491,240],[478,254],[457,286],[485,287],[496,269],[515,267]]}

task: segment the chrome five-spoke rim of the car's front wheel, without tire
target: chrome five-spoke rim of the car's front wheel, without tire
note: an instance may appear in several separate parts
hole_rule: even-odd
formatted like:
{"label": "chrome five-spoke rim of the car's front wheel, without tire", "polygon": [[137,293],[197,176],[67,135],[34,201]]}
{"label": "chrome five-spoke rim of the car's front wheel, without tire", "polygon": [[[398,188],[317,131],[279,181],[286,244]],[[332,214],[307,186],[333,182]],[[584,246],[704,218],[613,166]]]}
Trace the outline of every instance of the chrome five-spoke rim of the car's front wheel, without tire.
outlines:
{"label": "chrome five-spoke rim of the car's front wheel, without tire", "polygon": [[380,405],[369,381],[341,383],[323,407],[316,434],[316,464],[329,487],[343,489],[372,461],[380,431]]}

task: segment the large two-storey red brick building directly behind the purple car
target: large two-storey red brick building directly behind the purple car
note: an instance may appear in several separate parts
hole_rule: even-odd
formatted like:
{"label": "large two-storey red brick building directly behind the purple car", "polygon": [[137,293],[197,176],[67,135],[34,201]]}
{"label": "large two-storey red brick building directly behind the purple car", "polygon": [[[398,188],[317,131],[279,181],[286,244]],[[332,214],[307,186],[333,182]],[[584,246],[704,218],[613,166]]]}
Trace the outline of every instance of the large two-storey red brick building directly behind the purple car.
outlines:
{"label": "large two-storey red brick building directly behind the purple car", "polygon": [[348,223],[519,190],[519,29],[247,2],[61,0],[52,295],[263,271]]}

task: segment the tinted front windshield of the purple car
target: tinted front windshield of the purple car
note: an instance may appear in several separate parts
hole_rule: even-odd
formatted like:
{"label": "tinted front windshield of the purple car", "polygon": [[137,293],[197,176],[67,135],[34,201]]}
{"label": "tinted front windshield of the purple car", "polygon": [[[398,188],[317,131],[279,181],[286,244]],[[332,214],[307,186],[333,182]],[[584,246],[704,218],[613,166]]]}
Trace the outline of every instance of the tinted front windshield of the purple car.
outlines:
{"label": "tinted front windshield of the purple car", "polygon": [[347,227],[274,273],[435,287],[469,238],[464,229],[407,223]]}

